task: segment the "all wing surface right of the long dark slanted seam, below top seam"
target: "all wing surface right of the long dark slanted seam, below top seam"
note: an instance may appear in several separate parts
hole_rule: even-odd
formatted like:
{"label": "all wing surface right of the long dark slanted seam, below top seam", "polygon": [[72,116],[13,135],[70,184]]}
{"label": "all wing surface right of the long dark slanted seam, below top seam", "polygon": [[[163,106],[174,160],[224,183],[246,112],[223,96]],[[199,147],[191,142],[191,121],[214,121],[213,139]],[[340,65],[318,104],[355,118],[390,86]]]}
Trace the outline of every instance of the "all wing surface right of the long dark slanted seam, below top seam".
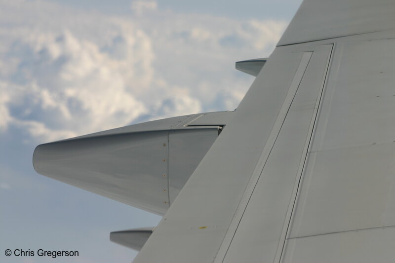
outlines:
{"label": "all wing surface right of the long dark slanted seam, below top seam", "polygon": [[393,261],[394,61],[393,36],[336,43],[283,262]]}

